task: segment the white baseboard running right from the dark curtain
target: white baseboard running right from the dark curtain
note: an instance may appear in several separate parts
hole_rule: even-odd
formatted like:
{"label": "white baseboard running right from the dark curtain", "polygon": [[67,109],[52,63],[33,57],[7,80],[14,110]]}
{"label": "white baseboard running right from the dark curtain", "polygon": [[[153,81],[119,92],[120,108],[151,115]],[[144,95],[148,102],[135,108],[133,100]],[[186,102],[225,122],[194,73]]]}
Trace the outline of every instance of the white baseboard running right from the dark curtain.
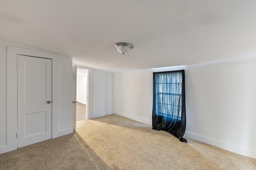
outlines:
{"label": "white baseboard running right from the dark curtain", "polygon": [[244,156],[248,156],[250,158],[256,159],[256,151],[255,150],[250,150],[250,149],[242,148],[242,147],[239,147],[239,146],[236,146],[236,145],[232,145],[230,143],[225,143],[225,142],[217,141],[217,140],[210,139],[210,138],[207,138],[207,137],[202,137],[200,135],[196,135],[196,134],[193,134],[193,133],[190,133],[190,132],[185,132],[184,138],[186,138],[186,137],[189,137],[189,138],[194,139],[196,141],[200,141],[202,143],[206,143],[208,145],[212,145],[214,147],[218,147],[218,148],[221,148],[221,149],[228,150],[230,152],[234,152],[234,153],[237,153],[237,154],[242,154]]}

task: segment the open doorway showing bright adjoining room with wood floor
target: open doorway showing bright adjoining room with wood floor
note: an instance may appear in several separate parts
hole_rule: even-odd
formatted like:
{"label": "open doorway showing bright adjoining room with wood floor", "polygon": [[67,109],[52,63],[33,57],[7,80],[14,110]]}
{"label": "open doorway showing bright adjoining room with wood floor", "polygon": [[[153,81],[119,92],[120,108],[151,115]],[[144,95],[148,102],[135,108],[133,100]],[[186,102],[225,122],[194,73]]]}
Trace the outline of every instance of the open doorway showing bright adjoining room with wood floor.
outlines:
{"label": "open doorway showing bright adjoining room with wood floor", "polygon": [[76,121],[88,119],[88,70],[77,68],[76,75]]}

